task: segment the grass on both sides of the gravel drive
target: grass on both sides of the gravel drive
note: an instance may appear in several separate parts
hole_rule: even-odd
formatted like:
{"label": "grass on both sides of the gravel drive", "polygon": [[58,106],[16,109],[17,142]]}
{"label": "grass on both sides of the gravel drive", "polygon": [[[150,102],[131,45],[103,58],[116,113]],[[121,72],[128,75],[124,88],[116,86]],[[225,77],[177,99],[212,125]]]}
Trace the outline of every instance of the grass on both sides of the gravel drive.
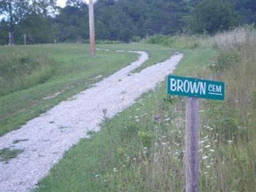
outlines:
{"label": "grass on both sides of the gravel drive", "polygon": [[[153,36],[143,44],[99,48],[148,51],[150,60],[134,72],[163,61],[178,50],[184,53],[184,58],[175,74],[224,81],[227,86],[224,102],[200,102],[200,191],[251,192],[255,191],[256,183],[255,45],[256,31],[248,28],[216,36]],[[31,81],[27,86],[18,84],[15,92],[10,89],[10,93],[0,97],[4,106],[0,134],[16,129],[29,118],[136,60],[135,54],[104,51],[92,59],[84,54],[84,48],[84,45],[26,48],[31,52],[38,49],[47,52],[44,60],[49,63],[45,68],[51,68],[51,76],[36,84],[29,84]],[[10,54],[5,47],[0,49],[5,49],[4,55]],[[105,57],[109,59],[105,61]],[[38,59],[43,60],[40,55]],[[95,63],[103,62],[109,64],[102,71]],[[31,68],[35,72],[45,69]],[[92,80],[99,75],[102,77]],[[184,98],[166,95],[166,83],[161,83],[115,118],[102,118],[102,129],[90,132],[91,138],[68,150],[40,181],[36,192],[184,191]]]}

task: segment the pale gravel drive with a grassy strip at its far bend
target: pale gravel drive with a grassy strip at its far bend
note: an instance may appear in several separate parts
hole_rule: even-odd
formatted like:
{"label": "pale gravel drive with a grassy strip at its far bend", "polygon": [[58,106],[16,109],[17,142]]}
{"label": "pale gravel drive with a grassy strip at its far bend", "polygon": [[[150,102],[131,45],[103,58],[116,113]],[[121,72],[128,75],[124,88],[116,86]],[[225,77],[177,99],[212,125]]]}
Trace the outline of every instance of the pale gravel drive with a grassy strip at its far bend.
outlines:
{"label": "pale gravel drive with a grassy strip at its far bend", "polygon": [[[172,73],[182,58],[182,54],[175,54],[140,73],[129,74],[148,60],[146,52],[136,53],[140,55],[138,61],[0,138],[0,149],[24,150],[8,164],[0,162],[1,192],[35,188],[65,151],[87,137],[87,131],[99,131],[103,109],[107,109],[108,116],[113,117],[131,106],[142,93],[153,89]],[[13,144],[15,140],[26,141]]]}

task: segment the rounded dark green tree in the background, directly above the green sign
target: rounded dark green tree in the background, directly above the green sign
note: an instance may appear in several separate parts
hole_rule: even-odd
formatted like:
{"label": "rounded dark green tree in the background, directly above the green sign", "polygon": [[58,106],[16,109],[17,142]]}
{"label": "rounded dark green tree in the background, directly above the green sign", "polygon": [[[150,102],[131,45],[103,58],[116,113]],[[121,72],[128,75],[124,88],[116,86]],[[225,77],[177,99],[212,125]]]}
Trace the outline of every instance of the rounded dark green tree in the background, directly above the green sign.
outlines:
{"label": "rounded dark green tree in the background, directly above the green sign", "polygon": [[214,34],[237,26],[238,21],[231,1],[203,0],[196,4],[189,26],[194,33]]}

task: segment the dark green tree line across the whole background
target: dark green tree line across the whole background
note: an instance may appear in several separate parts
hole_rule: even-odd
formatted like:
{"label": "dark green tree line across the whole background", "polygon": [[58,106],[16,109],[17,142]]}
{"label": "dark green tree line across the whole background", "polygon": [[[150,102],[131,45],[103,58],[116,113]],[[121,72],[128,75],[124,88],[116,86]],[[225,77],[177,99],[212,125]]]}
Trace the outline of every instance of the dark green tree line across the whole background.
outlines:
{"label": "dark green tree line across the whole background", "polygon": [[[0,1],[0,44],[87,42],[88,5],[68,0]],[[98,0],[95,33],[99,40],[130,42],[150,35],[214,34],[256,22],[255,0]]]}

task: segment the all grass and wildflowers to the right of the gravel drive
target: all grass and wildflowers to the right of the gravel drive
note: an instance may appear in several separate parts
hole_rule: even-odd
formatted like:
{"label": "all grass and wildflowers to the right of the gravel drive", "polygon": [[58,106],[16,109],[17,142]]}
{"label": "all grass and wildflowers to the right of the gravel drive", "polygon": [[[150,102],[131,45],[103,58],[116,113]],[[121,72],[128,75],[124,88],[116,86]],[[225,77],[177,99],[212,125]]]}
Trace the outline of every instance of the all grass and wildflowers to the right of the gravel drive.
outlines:
{"label": "all grass and wildflowers to the right of the gravel drive", "polygon": [[[225,102],[201,102],[200,191],[255,191],[256,33],[244,33],[238,44],[230,41],[237,31],[193,37],[198,45],[189,49],[181,37],[175,74],[227,84]],[[184,129],[184,99],[159,84],[104,118],[101,131],[69,150],[35,191],[184,191]]]}

